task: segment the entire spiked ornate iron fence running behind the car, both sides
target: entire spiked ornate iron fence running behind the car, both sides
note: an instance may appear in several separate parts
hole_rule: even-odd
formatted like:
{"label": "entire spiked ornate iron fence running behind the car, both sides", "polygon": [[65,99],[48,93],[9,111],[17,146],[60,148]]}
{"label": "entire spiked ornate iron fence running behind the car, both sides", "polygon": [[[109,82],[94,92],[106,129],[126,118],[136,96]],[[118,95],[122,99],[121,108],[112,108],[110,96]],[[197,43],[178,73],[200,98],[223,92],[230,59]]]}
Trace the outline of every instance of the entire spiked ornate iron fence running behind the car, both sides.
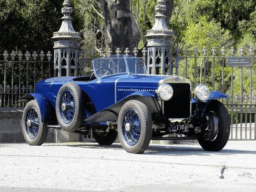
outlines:
{"label": "entire spiked ornate iron fence running behind the car, both sides", "polygon": [[[133,53],[135,57],[141,56],[144,60],[146,49],[140,53],[138,49],[124,54]],[[221,99],[229,110],[232,129],[231,140],[255,140],[256,139],[256,57],[254,49],[240,49],[235,54],[235,49],[229,52],[226,49],[212,48],[207,51],[203,48],[200,52],[197,48],[184,50],[176,49],[172,63],[171,74],[187,77],[193,87],[197,84],[207,84],[211,90],[221,91],[229,95],[227,99]],[[116,49],[117,55],[122,54]],[[110,49],[104,54],[110,55]],[[83,51],[80,54],[83,58]],[[2,58],[1,58],[2,57]],[[232,59],[248,59],[249,62],[241,65],[230,64]],[[161,59],[161,58],[159,58]],[[251,59],[251,63],[250,63]],[[79,66],[79,76],[84,76],[85,66],[91,66],[92,59],[82,59]],[[159,61],[160,62],[160,61]],[[24,93],[34,91],[38,80],[54,76],[54,62],[51,52],[40,54],[28,51],[12,51],[10,54],[4,51],[0,55],[0,107],[23,107],[17,103]],[[169,72],[169,71],[168,71]]]}

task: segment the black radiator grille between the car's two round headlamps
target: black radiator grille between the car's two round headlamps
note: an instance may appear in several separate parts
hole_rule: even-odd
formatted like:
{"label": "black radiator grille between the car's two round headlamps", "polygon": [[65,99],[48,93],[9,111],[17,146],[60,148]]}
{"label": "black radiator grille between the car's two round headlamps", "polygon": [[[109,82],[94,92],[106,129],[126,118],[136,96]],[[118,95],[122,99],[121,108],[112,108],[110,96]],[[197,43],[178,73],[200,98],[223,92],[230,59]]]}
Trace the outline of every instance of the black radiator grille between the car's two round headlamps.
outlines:
{"label": "black radiator grille between the car's two round headlamps", "polygon": [[169,84],[173,88],[173,96],[163,102],[163,114],[166,118],[189,118],[191,113],[190,84]]}

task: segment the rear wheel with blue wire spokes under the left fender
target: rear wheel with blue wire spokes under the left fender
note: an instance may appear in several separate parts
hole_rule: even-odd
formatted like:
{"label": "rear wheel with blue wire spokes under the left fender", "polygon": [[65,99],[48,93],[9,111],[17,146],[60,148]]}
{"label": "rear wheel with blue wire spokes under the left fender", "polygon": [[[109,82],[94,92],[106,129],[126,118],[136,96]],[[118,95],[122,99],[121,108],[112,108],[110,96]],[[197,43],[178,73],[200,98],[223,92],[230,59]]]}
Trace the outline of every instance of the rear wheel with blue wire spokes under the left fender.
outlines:
{"label": "rear wheel with blue wire spokes under the left fender", "polygon": [[31,100],[24,107],[21,118],[21,132],[29,145],[41,145],[46,140],[48,127],[41,120],[37,101]]}

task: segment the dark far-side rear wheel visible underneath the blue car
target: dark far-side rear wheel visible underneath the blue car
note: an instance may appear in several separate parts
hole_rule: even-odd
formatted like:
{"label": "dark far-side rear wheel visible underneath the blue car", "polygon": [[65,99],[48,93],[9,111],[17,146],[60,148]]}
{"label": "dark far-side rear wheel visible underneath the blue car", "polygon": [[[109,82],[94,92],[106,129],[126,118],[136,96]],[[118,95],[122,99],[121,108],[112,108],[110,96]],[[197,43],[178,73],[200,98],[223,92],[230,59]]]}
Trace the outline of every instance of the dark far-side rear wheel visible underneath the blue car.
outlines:
{"label": "dark far-side rear wheel visible underneath the blue car", "polygon": [[110,145],[115,142],[117,138],[118,133],[116,130],[109,130],[109,132],[104,132],[101,129],[96,129],[95,132],[93,132],[93,137],[96,140],[97,143],[101,145]]}

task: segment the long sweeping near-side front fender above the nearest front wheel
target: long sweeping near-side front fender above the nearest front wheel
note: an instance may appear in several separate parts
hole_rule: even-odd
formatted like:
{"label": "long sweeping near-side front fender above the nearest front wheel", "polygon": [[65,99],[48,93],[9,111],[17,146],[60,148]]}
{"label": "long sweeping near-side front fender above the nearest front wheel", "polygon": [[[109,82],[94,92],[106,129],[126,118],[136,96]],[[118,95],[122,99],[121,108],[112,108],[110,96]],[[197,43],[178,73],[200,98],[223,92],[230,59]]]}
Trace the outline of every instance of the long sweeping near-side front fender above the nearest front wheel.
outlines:
{"label": "long sweeping near-side front fender above the nearest front wheel", "polygon": [[88,122],[101,122],[101,121],[117,121],[118,115],[123,107],[123,105],[129,100],[138,100],[143,102],[149,110],[149,113],[157,113],[158,118],[162,117],[162,111],[160,105],[157,102],[157,99],[151,94],[146,91],[137,91],[135,93],[130,94],[126,98],[122,99],[121,101],[116,102],[115,104],[111,105],[110,107],[101,110],[98,113],[90,116],[89,118],[85,119]]}

